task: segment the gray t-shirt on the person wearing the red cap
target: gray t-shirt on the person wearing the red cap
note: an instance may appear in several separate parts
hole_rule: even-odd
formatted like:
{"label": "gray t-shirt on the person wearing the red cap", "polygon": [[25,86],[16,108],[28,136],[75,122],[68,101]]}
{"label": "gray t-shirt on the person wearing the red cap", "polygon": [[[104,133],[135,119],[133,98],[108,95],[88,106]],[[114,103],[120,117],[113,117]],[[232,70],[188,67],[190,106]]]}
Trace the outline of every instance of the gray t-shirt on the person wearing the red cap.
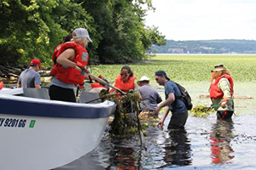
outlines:
{"label": "gray t-shirt on the person wearing the red cap", "polygon": [[21,88],[35,88],[35,84],[41,84],[40,75],[37,71],[26,69],[21,72],[18,83]]}

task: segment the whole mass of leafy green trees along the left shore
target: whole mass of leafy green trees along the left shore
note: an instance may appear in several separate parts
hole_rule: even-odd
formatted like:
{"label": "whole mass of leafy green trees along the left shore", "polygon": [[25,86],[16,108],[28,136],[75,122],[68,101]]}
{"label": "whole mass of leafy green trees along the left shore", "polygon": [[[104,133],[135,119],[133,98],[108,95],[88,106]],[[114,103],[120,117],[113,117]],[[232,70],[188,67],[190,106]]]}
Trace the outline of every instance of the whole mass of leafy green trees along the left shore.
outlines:
{"label": "whole mass of leafy green trees along the left shore", "polygon": [[[147,8],[145,8],[147,7]],[[144,25],[151,0],[3,0],[0,2],[0,65],[37,58],[52,65],[63,37],[84,27],[90,61],[125,63],[146,58],[152,44],[165,44],[157,27]]]}

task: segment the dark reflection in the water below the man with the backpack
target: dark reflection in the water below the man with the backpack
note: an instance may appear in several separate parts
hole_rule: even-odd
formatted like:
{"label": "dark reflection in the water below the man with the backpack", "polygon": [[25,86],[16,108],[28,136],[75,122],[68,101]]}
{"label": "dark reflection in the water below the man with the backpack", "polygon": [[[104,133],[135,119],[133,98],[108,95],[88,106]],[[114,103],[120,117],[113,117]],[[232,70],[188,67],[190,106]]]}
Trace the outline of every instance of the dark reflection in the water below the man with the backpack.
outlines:
{"label": "dark reflection in the water below the man with the backpack", "polygon": [[190,141],[185,129],[172,129],[166,137],[164,144],[163,167],[188,166],[192,163]]}

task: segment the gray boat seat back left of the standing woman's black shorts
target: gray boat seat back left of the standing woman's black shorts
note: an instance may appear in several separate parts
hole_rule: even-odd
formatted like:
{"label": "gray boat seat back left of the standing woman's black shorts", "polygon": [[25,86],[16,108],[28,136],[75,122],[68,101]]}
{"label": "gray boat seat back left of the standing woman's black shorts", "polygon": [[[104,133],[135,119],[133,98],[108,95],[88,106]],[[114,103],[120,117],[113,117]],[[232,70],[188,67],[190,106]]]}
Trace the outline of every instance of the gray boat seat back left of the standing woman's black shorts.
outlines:
{"label": "gray boat seat back left of the standing woman's black shorts", "polygon": [[38,99],[49,99],[47,88],[23,88],[23,96]]}

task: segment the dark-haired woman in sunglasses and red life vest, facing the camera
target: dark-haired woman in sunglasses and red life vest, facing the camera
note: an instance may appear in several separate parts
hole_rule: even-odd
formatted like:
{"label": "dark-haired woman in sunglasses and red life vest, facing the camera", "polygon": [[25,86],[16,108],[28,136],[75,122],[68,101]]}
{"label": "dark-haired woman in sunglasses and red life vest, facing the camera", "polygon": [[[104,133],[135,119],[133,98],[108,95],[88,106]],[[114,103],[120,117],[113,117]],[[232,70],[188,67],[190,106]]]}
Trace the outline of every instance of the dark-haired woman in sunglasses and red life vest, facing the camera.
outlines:
{"label": "dark-haired woman in sunglasses and red life vest, facing the camera", "polygon": [[[121,73],[119,76],[115,79],[115,82],[113,83],[113,86],[116,88],[119,88],[126,94],[129,93],[131,90],[137,91],[137,84],[135,83],[136,77],[133,75],[133,72],[131,71],[131,67],[128,65],[125,65],[121,69]],[[110,94],[114,92],[114,89],[110,90]],[[118,92],[117,92],[118,93]]]}

